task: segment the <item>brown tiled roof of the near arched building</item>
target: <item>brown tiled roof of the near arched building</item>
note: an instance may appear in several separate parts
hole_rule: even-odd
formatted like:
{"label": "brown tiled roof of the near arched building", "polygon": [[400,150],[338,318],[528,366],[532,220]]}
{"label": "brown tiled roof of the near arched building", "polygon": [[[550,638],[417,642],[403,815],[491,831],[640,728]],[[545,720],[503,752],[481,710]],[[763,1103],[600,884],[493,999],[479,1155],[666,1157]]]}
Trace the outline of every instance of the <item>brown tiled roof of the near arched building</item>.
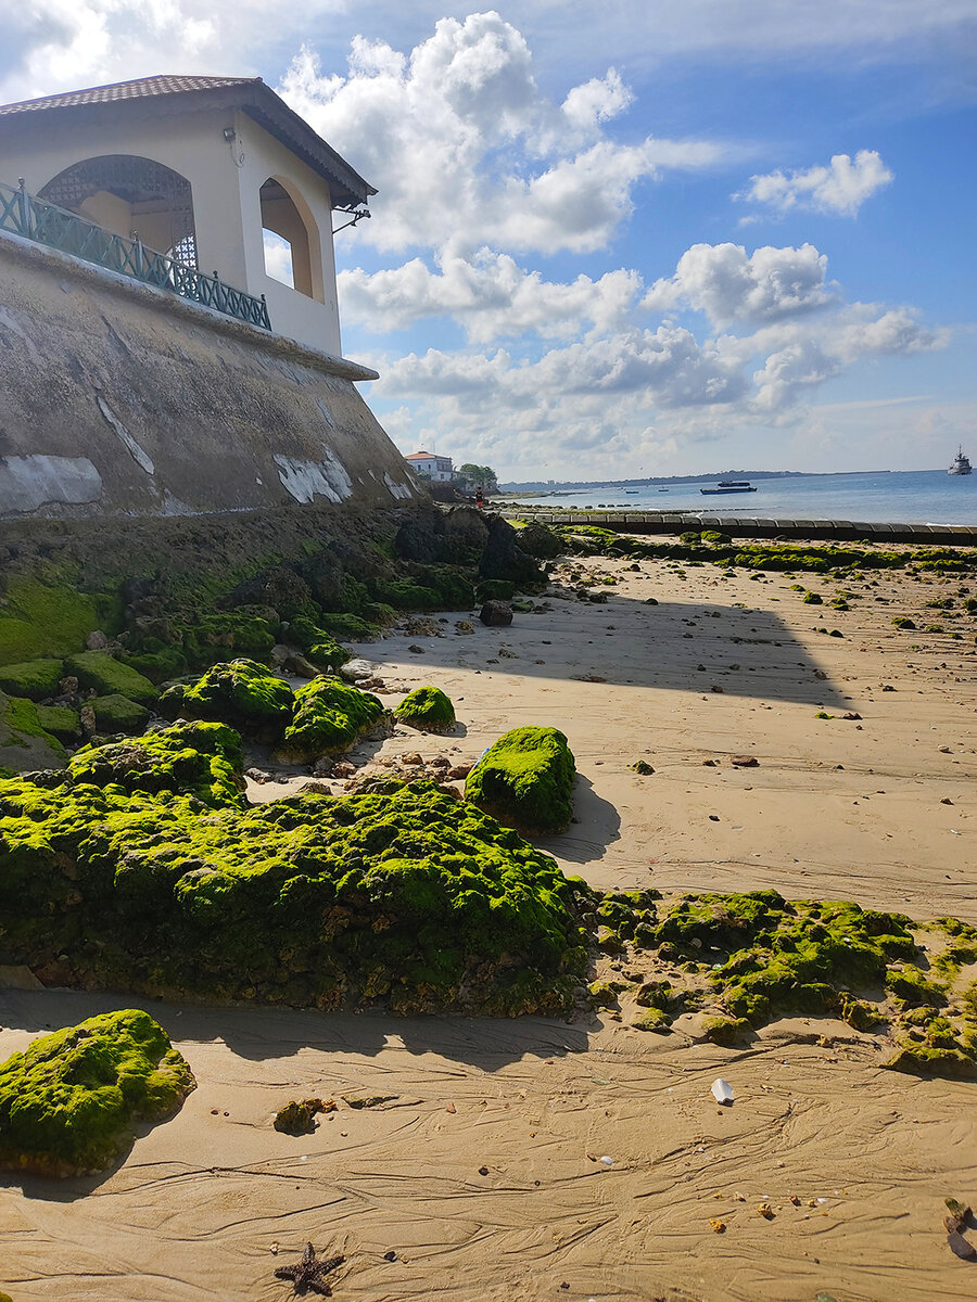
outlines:
{"label": "brown tiled roof of the near arched building", "polygon": [[[182,104],[178,103],[178,96],[186,96]],[[94,124],[96,120],[104,121],[106,115],[112,115],[113,105],[132,104],[135,100],[168,100],[165,109],[169,112],[180,112],[181,108],[188,112],[194,108],[240,109],[328,181],[333,206],[345,206],[352,211],[353,207],[367,203],[371,194],[376,194],[261,77],[143,77],[111,86],[66,91],[64,95],[25,99],[17,104],[0,104],[0,132],[9,137],[10,133],[22,132],[27,122],[36,122],[38,126],[43,122],[47,129],[52,118],[40,116],[46,113],[66,113],[76,121]],[[160,108],[163,109],[163,104]]]}

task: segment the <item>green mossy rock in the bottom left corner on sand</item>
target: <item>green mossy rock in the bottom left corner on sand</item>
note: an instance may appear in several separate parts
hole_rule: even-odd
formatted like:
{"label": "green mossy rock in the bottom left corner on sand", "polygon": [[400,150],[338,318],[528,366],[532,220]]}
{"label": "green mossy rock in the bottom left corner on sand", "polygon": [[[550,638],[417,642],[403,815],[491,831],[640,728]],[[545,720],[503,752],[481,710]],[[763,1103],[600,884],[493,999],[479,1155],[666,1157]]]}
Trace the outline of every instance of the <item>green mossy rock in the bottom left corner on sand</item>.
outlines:
{"label": "green mossy rock in the bottom left corner on sand", "polygon": [[95,1174],[197,1087],[149,1013],[125,1009],[42,1035],[0,1065],[0,1165],[43,1176]]}

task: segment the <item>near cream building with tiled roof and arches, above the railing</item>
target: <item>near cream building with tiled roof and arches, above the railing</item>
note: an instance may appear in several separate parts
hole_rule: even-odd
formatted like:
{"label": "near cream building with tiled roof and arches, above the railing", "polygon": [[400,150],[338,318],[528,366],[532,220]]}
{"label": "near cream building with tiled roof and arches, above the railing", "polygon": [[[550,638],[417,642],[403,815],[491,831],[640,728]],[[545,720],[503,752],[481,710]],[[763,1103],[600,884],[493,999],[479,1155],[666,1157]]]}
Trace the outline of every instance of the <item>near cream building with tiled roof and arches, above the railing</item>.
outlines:
{"label": "near cream building with tiled roof and arches, above the railing", "polygon": [[[332,215],[369,215],[376,191],[261,78],[149,77],[0,105],[0,182],[21,178],[264,296],[276,335],[341,355]],[[294,288],[268,275],[266,232],[288,245]]]}

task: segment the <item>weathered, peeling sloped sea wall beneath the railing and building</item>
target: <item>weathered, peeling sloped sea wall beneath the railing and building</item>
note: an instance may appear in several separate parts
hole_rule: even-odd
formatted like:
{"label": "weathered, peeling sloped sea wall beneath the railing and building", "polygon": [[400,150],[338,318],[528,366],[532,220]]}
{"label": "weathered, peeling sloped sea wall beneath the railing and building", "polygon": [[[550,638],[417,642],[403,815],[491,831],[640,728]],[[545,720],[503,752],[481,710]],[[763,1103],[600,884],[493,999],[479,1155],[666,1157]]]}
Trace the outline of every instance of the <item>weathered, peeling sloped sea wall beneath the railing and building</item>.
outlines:
{"label": "weathered, peeling sloped sea wall beneath the railing and building", "polygon": [[371,378],[0,233],[0,519],[422,500]]}

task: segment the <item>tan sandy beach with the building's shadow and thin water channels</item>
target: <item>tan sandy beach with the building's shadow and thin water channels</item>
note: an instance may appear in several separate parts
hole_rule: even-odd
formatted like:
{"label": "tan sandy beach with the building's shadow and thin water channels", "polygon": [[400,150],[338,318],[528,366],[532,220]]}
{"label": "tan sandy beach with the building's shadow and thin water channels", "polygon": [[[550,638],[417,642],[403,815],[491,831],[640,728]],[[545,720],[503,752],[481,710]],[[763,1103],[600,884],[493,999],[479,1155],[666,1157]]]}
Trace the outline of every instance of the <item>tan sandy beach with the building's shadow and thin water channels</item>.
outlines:
{"label": "tan sandy beach with the building's shadow and thin water channels", "polygon": [[[576,570],[606,603],[563,587],[508,628],[455,612],[357,647],[391,706],[434,684],[459,725],[396,729],[354,760],[472,762],[508,728],[554,725],[577,762],[576,818],[537,844],[568,874],[977,923],[974,620],[927,607],[959,578],[845,579],[851,608],[834,609],[792,589],[838,591],[810,573],[574,560],[556,578]],[[636,773],[640,759],[654,772]],[[977,1289],[942,1230],[946,1197],[977,1198],[973,1083],[881,1070],[879,1038],[840,1021],[782,1019],[731,1049],[681,1019],[659,1036],[619,1013],[326,1017],[8,986],[0,1059],[122,1006],[150,1008],[199,1088],[107,1177],[5,1177],[0,1286],[14,1302],[271,1302],[292,1295],[272,1272],[306,1241],[345,1256],[331,1282],[350,1302]],[[731,1108],[710,1095],[720,1075]],[[337,1109],[313,1135],[276,1133],[275,1111],[309,1094]],[[389,1098],[344,1101],[371,1096]]]}

